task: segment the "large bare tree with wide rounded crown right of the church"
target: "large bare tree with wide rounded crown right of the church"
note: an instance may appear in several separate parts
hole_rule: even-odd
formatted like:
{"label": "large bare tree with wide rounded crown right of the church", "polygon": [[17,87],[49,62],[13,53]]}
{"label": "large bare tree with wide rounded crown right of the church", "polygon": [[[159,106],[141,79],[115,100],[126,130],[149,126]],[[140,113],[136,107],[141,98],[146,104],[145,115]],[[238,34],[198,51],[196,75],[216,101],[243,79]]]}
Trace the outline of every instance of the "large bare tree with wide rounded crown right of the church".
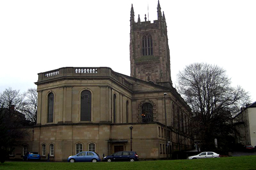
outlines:
{"label": "large bare tree with wide rounded crown right of the church", "polygon": [[248,92],[230,86],[226,71],[207,63],[188,65],[177,78],[177,90],[195,115],[195,132],[205,148],[214,146],[214,138],[230,134],[232,117],[249,101]]}

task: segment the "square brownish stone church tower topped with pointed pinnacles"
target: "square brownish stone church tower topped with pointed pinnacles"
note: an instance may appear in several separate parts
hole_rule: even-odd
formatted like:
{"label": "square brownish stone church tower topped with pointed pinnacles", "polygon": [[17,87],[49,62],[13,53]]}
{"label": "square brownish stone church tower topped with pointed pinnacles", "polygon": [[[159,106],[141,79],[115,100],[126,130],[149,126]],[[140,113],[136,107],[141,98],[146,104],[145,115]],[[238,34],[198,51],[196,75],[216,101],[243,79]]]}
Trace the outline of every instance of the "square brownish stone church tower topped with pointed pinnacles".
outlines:
{"label": "square brownish stone church tower topped with pointed pinnacles", "polygon": [[134,20],[131,5],[130,17],[130,67],[131,76],[147,82],[171,82],[170,50],[168,45],[167,25],[164,12],[162,15],[158,1],[158,20],[151,23],[138,15]]}

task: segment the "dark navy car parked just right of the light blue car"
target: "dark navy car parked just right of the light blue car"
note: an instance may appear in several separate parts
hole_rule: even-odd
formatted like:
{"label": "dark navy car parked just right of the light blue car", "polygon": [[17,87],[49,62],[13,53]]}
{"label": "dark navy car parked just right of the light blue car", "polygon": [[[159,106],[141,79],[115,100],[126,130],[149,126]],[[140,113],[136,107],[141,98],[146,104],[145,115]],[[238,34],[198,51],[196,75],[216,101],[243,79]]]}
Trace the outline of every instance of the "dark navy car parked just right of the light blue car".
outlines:
{"label": "dark navy car parked just right of the light blue car", "polygon": [[139,160],[139,156],[133,151],[119,151],[112,155],[105,156],[102,161],[112,162],[112,161],[130,161],[134,162]]}

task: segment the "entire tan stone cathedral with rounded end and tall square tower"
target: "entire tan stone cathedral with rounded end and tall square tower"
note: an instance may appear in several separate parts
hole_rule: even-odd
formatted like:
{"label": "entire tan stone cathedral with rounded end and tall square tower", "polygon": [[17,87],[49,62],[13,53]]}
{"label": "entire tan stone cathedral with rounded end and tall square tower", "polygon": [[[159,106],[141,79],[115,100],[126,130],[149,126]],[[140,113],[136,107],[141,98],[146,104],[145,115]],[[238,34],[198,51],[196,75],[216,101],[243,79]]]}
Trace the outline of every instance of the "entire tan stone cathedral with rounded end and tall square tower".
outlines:
{"label": "entire tan stone cathedral with rounded end and tall square tower", "polygon": [[37,122],[14,158],[37,151],[42,159],[49,155],[51,161],[67,161],[81,151],[95,151],[102,159],[133,150],[139,159],[161,159],[191,149],[192,113],[172,87],[167,24],[159,1],[157,15],[152,23],[146,15],[135,22],[131,5],[130,76],[109,67],[39,73]]}

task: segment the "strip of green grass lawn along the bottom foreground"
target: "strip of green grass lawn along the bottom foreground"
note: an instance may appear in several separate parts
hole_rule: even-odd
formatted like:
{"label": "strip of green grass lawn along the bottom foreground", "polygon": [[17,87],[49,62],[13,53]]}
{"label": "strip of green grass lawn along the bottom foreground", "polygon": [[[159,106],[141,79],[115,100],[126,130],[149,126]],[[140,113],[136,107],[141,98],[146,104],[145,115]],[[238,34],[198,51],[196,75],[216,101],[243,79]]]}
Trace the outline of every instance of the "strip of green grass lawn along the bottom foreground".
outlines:
{"label": "strip of green grass lawn along the bottom foreground", "polygon": [[66,170],[66,169],[256,169],[256,156],[236,156],[195,160],[155,160],[139,162],[5,162],[0,170]]}

